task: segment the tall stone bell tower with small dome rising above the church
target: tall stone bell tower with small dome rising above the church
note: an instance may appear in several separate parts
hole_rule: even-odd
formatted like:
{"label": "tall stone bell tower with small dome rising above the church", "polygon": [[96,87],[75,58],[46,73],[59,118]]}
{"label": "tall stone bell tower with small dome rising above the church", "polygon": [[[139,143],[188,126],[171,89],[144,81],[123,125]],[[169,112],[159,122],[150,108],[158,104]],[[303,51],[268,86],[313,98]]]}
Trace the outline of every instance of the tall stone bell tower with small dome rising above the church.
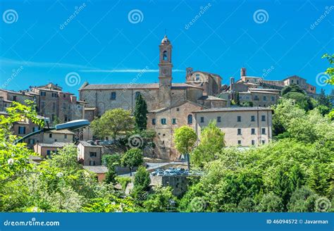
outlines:
{"label": "tall stone bell tower with small dome rising above the church", "polygon": [[159,45],[159,107],[171,106],[172,87],[172,44],[167,36],[163,37]]}

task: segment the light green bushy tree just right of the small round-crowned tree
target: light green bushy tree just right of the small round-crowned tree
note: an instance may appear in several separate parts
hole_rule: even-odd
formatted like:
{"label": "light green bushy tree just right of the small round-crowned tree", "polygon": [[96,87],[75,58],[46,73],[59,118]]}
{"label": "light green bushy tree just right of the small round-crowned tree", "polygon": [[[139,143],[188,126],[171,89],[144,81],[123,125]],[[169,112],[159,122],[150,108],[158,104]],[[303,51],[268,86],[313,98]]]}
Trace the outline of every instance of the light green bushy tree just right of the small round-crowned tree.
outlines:
{"label": "light green bushy tree just right of the small round-crowned tree", "polygon": [[201,142],[191,154],[192,163],[203,167],[204,163],[216,159],[218,152],[225,146],[224,135],[216,126],[216,120],[212,120],[201,132]]}

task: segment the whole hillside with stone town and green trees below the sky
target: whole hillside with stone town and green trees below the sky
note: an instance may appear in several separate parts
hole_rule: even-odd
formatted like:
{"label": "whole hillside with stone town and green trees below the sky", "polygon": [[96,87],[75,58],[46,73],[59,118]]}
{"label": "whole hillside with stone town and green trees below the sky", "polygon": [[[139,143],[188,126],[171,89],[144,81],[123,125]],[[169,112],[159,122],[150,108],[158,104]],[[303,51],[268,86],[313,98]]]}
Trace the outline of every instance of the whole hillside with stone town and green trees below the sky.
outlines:
{"label": "whole hillside with stone town and green trees below the sky", "polygon": [[172,49],[165,35],[158,83],[0,89],[1,209],[330,211],[333,95],[244,67],[176,83]]}

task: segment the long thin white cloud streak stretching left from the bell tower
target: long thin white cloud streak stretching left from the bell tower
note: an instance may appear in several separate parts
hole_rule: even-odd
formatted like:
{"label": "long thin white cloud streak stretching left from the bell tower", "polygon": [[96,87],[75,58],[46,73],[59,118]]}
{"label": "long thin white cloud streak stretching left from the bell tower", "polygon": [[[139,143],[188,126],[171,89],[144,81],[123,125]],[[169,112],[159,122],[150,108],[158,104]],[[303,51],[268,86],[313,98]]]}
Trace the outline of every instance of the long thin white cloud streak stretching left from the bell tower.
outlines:
{"label": "long thin white cloud streak stretching left from the bell tower", "polygon": [[[34,62],[34,61],[18,61],[9,58],[0,57],[0,66],[18,66],[22,65],[25,67],[36,67],[36,68],[72,68],[79,69],[78,72],[83,73],[158,73],[159,69],[136,69],[136,68],[124,68],[124,69],[99,69],[92,68],[91,66],[85,66],[73,63],[48,63],[48,62]],[[185,70],[174,69],[173,72],[184,72]]]}

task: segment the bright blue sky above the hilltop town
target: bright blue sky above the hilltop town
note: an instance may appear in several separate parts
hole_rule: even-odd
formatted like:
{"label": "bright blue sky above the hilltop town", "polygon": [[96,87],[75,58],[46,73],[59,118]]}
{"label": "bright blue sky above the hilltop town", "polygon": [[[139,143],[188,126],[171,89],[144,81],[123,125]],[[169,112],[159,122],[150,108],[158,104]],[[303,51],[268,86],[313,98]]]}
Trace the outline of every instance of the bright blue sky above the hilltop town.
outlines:
{"label": "bright blue sky above the hilltop town", "polygon": [[[184,82],[185,68],[192,67],[228,83],[245,67],[247,75],[268,80],[299,75],[329,93],[331,87],[317,76],[328,68],[321,56],[333,53],[332,5],[325,0],[2,0],[0,86],[18,90],[54,82],[77,94],[85,81],[157,82],[166,30],[173,44],[173,82]],[[145,68],[149,71],[137,77]],[[68,82],[68,73],[78,75]]]}

